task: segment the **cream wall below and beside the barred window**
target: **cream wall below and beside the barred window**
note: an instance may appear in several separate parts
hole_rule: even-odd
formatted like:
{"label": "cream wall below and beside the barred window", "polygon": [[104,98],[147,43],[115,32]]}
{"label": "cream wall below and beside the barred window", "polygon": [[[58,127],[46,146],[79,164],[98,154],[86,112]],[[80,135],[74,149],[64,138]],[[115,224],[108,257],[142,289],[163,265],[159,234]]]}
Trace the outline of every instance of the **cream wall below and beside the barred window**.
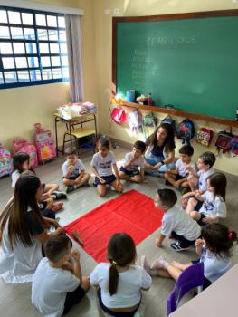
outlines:
{"label": "cream wall below and beside the barred window", "polygon": [[[85,15],[81,17],[85,99],[96,103],[93,1],[33,1],[52,5],[71,6],[85,10]],[[0,142],[8,147],[8,149],[11,149],[11,142],[17,137],[22,136],[32,139],[33,124],[36,122],[41,122],[45,130],[53,131],[54,120],[52,113],[58,106],[68,101],[70,101],[69,82],[0,90]],[[61,129],[60,131],[61,138],[63,130]]]}

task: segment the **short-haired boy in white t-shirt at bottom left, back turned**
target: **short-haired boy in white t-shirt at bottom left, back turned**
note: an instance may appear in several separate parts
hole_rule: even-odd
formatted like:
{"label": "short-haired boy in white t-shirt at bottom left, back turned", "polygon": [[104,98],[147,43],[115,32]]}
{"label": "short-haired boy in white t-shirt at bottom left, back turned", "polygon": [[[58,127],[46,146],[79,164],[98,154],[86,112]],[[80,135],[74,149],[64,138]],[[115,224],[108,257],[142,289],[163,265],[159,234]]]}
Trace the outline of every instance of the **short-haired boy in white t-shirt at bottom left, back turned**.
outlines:
{"label": "short-haired boy in white t-shirt at bottom left, back turned", "polygon": [[71,250],[67,235],[51,236],[44,252],[47,257],[33,274],[32,303],[43,316],[60,317],[81,301],[90,282],[81,274],[80,254]]}

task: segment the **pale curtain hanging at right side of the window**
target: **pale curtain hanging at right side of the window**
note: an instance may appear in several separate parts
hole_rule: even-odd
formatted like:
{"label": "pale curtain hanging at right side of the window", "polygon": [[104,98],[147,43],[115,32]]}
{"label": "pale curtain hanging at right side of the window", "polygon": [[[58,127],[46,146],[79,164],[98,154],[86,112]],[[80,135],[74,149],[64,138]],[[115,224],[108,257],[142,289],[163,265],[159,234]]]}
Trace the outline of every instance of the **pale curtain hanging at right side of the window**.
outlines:
{"label": "pale curtain hanging at right side of the window", "polygon": [[81,62],[81,17],[65,14],[69,72],[71,83],[71,102],[83,101],[83,79]]}

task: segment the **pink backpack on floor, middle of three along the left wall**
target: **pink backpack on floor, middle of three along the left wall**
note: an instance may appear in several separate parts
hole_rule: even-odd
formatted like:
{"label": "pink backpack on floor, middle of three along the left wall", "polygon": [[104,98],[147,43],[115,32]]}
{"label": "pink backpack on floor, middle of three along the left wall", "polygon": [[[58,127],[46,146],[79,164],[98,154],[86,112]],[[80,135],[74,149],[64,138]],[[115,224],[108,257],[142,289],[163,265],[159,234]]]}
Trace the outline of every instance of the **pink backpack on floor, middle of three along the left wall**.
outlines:
{"label": "pink backpack on floor, middle of three along the left wall", "polygon": [[22,151],[24,153],[29,154],[30,156],[30,167],[31,168],[37,168],[38,167],[38,159],[37,159],[37,153],[36,149],[27,139],[20,138],[15,139],[13,141],[13,151],[14,154]]}

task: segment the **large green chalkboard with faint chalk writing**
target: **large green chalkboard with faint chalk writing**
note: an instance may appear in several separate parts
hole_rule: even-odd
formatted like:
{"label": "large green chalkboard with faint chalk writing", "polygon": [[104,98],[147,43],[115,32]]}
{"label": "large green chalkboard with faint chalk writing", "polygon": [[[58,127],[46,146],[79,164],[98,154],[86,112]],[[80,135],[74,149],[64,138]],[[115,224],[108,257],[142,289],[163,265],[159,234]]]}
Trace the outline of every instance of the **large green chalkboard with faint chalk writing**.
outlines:
{"label": "large green chalkboard with faint chalk writing", "polygon": [[116,92],[123,99],[128,90],[151,92],[157,105],[172,103],[176,110],[233,120],[238,107],[237,10],[228,15],[115,18]]}

